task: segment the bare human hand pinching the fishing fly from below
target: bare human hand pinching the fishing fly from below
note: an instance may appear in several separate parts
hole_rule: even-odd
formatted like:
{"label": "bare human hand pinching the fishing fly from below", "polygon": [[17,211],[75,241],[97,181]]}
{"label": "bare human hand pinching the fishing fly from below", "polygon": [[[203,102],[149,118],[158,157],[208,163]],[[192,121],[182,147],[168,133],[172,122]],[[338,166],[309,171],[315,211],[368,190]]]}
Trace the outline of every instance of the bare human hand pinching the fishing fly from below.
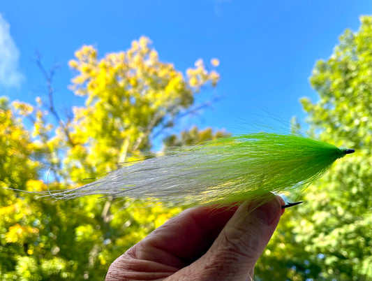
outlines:
{"label": "bare human hand pinching the fishing fly from below", "polygon": [[185,210],[116,259],[106,281],[253,280],[283,204],[276,196],[253,211],[249,201]]}

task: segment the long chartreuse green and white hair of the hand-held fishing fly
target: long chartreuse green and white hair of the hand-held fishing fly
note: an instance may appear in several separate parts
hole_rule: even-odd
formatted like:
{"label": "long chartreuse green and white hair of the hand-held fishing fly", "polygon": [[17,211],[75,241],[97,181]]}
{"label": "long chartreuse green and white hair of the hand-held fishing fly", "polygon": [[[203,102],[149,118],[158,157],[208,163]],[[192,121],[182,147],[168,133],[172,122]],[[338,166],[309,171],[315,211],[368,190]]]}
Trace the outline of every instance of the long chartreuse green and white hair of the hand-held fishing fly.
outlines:
{"label": "long chartreuse green and white hair of the hand-held fishing fly", "polygon": [[265,203],[269,192],[300,194],[352,152],[304,136],[244,134],[166,152],[51,195],[103,194],[181,207],[231,206],[246,199]]}

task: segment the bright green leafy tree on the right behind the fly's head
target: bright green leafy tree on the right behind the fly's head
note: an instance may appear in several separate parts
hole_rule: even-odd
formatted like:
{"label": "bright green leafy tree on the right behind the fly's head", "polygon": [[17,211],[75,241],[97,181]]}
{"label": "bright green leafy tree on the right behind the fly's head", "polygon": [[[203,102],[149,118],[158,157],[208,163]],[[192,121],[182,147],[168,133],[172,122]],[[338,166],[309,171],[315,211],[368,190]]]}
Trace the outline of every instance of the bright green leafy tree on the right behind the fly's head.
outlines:
{"label": "bright green leafy tree on the right behind the fly's head", "polygon": [[310,79],[320,101],[301,99],[313,134],[356,150],[288,210],[256,268],[258,280],[372,280],[372,18],[361,17]]}

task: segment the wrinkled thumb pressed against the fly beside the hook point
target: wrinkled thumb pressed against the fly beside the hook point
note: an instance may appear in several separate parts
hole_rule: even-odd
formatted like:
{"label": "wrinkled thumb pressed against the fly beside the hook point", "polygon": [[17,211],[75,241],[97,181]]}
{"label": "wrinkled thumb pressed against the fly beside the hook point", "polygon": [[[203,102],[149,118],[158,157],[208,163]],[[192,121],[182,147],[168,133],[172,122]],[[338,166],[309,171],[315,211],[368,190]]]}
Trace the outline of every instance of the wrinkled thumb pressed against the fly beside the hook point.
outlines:
{"label": "wrinkled thumb pressed against the fly beside the hook point", "polygon": [[[247,280],[281,217],[281,199],[276,196],[255,210],[244,202],[225,225],[208,252],[199,259],[206,280]],[[204,274],[203,274],[204,275]],[[249,280],[249,278],[248,278]]]}

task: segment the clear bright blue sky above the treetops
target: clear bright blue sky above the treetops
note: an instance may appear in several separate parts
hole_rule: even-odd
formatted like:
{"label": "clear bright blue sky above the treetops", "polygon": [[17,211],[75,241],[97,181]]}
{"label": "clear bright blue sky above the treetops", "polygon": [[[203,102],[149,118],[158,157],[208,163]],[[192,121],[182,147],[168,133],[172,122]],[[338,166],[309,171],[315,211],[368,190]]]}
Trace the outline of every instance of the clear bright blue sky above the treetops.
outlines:
{"label": "clear bright blue sky above the treetops", "polygon": [[[0,95],[34,103],[45,96],[35,64],[38,50],[48,68],[60,64],[54,87],[57,110],[82,105],[68,90],[68,60],[84,44],[101,55],[126,50],[149,36],[160,59],[186,71],[198,58],[217,57],[221,82],[198,95],[221,100],[181,127],[241,133],[244,121],[266,112],[303,122],[302,96],[317,101],[308,78],[317,59],[327,59],[346,28],[356,31],[371,1],[1,1]],[[267,121],[265,121],[267,122]]]}

